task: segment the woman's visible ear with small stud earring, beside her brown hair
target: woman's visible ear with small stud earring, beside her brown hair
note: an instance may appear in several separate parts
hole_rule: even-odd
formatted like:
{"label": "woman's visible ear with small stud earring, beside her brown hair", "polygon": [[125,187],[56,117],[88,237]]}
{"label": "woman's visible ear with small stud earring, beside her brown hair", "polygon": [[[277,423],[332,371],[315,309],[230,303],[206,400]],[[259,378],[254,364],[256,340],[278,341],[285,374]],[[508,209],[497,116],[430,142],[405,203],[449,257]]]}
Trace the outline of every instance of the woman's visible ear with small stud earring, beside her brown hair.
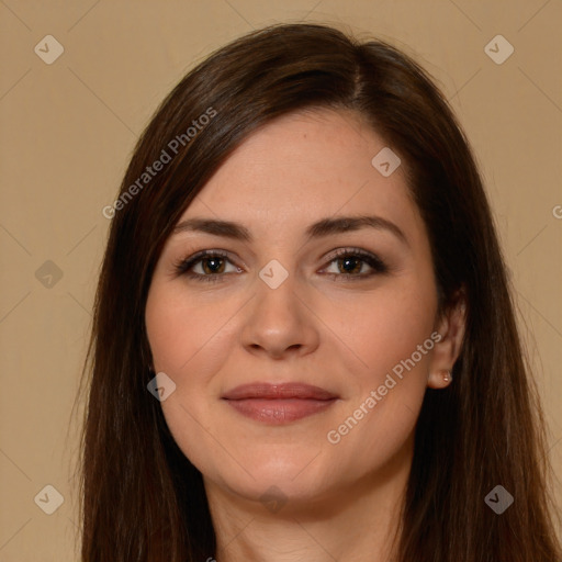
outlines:
{"label": "woman's visible ear with small stud earring, beside her brown hair", "polygon": [[464,338],[467,322],[467,293],[460,289],[452,303],[437,319],[435,329],[441,339],[435,345],[427,385],[430,389],[445,389],[451,381],[451,371],[457,361]]}

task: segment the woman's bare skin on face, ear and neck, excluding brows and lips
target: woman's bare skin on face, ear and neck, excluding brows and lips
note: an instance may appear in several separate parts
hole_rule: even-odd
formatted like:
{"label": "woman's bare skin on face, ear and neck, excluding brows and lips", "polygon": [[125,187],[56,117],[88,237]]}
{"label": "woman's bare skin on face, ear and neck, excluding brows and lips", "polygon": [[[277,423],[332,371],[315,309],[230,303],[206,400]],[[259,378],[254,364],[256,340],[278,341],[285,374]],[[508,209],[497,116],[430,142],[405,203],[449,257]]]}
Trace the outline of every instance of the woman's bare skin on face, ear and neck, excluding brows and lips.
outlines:
{"label": "woman's bare skin on face, ear and neck, excluding brows and lips", "polygon": [[[449,384],[442,373],[458,357],[464,316],[462,306],[437,314],[428,237],[403,167],[386,178],[371,165],[385,146],[347,111],[285,115],[241,144],[180,220],[235,221],[254,240],[180,232],[161,252],[146,305],[148,339],[155,371],[177,385],[161,407],[203,474],[218,562],[390,557],[423,397],[428,386]],[[321,218],[361,214],[391,221],[406,243],[384,228],[304,237]],[[340,248],[374,254],[389,270],[360,277],[373,269],[364,261],[346,269],[334,255]],[[176,272],[176,262],[204,249],[229,257],[220,273],[209,259],[192,271],[222,280]],[[288,272],[277,289],[259,277],[273,259]],[[347,271],[357,279],[344,279]],[[329,442],[328,431],[435,331],[441,340]],[[286,381],[339,398],[278,426],[221,400],[239,384]],[[268,491],[278,504],[262,499]]]}

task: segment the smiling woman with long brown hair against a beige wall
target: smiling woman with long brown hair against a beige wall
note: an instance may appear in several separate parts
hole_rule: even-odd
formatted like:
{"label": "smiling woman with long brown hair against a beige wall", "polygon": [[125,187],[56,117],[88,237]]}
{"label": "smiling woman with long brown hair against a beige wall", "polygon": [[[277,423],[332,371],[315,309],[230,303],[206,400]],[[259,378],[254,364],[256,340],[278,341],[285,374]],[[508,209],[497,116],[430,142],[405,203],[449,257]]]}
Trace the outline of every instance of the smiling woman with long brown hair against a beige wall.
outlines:
{"label": "smiling woman with long brown hair against a beige wall", "polygon": [[411,58],[233,42],[103,213],[85,562],[560,560],[488,203]]}

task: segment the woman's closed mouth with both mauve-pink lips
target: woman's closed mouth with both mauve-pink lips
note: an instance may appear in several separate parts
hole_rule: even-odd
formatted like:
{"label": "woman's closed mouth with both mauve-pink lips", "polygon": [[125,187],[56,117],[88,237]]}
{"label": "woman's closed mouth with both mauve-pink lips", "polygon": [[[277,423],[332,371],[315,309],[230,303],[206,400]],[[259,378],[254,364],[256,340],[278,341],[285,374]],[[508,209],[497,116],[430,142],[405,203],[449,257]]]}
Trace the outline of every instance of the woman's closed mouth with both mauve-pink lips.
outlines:
{"label": "woman's closed mouth with both mauve-pink lips", "polygon": [[252,383],[236,386],[222,400],[239,414],[271,425],[296,422],[328,409],[339,396],[301,383]]}

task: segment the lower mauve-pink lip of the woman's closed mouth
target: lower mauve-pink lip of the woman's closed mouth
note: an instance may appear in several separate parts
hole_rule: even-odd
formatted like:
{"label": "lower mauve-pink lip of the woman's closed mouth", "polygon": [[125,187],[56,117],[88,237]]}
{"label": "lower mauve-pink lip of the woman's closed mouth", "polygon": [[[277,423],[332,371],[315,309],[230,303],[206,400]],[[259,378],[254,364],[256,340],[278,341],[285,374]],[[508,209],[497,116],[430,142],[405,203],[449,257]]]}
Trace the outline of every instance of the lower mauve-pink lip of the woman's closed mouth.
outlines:
{"label": "lower mauve-pink lip of the woman's closed mouth", "polygon": [[240,414],[251,419],[281,425],[324,412],[336,402],[336,398],[244,398],[227,400],[226,402]]}

